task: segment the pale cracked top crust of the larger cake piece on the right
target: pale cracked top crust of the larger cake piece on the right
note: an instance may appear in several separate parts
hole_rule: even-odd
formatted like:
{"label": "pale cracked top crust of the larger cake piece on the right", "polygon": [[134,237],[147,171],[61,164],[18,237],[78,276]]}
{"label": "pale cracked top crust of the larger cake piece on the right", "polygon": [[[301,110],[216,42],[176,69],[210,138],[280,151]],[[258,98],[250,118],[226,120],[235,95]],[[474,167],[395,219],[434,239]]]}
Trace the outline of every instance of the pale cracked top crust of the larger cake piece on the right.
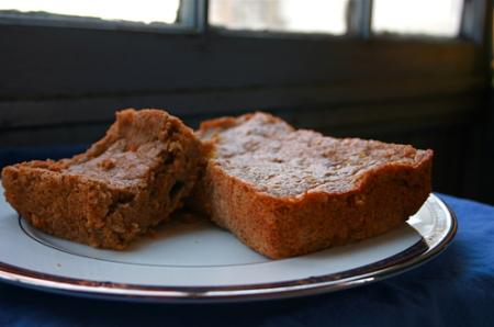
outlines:
{"label": "pale cracked top crust of the larger cake piece on the right", "polygon": [[433,156],[409,145],[295,131],[262,112],[205,122],[199,137],[211,142],[214,164],[228,174],[280,198],[345,193],[371,170],[417,167]]}

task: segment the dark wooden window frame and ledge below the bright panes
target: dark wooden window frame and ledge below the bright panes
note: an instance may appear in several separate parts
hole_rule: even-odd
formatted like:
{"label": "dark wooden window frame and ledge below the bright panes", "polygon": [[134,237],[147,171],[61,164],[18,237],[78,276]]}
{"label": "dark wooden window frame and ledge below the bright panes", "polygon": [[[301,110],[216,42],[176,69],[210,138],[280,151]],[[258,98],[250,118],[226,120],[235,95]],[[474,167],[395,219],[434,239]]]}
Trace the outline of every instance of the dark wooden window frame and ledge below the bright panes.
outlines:
{"label": "dark wooden window frame and ledge below the bright panes", "polygon": [[[481,92],[489,81],[484,20],[492,4],[465,1],[458,38],[371,35],[371,0],[352,0],[348,37],[211,29],[207,0],[180,13],[194,22],[188,33],[10,21],[0,24],[8,45],[0,59],[9,63],[0,65],[0,132],[105,122],[115,109],[132,105],[166,103],[178,114],[201,117],[205,109],[214,115],[345,108]],[[161,65],[167,60],[172,65]],[[35,114],[40,110],[45,117]]]}

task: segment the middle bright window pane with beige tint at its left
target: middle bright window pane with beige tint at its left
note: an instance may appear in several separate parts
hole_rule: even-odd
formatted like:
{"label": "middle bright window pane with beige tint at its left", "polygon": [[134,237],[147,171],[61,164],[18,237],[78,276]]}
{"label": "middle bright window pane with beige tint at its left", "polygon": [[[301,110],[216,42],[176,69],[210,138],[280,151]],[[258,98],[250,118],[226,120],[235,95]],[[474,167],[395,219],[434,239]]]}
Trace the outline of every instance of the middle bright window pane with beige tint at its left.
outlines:
{"label": "middle bright window pane with beige tint at its left", "polygon": [[210,0],[210,23],[231,30],[347,32],[349,0]]}

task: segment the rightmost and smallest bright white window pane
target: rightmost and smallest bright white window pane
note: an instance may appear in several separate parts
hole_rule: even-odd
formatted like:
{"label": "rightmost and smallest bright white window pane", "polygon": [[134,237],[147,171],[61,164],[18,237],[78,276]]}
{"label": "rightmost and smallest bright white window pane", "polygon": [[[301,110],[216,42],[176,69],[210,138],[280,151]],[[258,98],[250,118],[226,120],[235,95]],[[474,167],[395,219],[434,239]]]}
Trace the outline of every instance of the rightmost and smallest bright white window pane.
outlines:
{"label": "rightmost and smallest bright white window pane", "polygon": [[374,0],[374,33],[457,36],[462,0]]}

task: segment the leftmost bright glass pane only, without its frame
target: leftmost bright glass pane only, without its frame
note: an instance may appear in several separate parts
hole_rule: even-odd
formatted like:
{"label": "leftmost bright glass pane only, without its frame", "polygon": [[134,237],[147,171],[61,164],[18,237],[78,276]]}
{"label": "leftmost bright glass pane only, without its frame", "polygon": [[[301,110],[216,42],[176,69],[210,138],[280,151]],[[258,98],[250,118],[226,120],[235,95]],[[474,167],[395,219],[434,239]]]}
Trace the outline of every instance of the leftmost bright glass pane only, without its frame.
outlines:
{"label": "leftmost bright glass pane only, without its frame", "polygon": [[54,13],[143,23],[173,23],[180,0],[1,0],[0,10]]}

